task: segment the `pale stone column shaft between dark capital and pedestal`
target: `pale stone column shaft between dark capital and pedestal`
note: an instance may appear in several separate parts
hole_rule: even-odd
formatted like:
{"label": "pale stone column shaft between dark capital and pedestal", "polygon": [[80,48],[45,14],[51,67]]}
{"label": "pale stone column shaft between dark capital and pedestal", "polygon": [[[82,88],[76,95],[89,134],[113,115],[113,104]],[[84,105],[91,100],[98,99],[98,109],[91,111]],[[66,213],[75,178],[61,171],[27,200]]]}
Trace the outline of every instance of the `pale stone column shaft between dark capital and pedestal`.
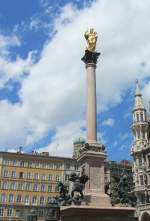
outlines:
{"label": "pale stone column shaft between dark capital and pedestal", "polygon": [[87,142],[97,141],[96,122],[96,64],[87,63]]}

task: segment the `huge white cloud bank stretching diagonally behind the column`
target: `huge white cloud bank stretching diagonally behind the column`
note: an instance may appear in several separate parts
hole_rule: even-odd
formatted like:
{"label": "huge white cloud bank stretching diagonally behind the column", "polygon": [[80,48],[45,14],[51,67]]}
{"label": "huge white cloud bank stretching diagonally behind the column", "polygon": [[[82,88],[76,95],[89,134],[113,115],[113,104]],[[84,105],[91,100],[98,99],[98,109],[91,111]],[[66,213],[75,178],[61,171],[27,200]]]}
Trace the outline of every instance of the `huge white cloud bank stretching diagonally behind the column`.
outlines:
{"label": "huge white cloud bank stretching diagonally behind the column", "polygon": [[[57,32],[45,43],[41,59],[21,66],[30,72],[19,92],[21,104],[0,102],[0,145],[29,145],[55,130],[45,149],[71,154],[72,140],[82,133],[79,122],[85,121],[86,71],[80,60],[86,45],[83,32],[93,26],[99,35],[97,102],[98,112],[104,111],[122,101],[136,78],[149,76],[149,15],[149,0],[105,0],[82,10],[70,4],[62,9],[55,20]],[[54,151],[57,139],[60,145]]]}

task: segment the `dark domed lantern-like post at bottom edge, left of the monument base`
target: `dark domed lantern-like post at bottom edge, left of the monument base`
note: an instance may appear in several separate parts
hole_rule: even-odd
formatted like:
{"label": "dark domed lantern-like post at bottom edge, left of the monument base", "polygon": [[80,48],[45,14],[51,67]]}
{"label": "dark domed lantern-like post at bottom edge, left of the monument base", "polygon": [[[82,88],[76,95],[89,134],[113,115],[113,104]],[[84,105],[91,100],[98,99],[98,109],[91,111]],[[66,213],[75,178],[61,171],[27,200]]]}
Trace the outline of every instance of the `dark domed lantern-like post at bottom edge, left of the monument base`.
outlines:
{"label": "dark domed lantern-like post at bottom edge, left of the monument base", "polygon": [[60,206],[56,199],[51,199],[45,211],[45,221],[58,221],[60,218]]}

